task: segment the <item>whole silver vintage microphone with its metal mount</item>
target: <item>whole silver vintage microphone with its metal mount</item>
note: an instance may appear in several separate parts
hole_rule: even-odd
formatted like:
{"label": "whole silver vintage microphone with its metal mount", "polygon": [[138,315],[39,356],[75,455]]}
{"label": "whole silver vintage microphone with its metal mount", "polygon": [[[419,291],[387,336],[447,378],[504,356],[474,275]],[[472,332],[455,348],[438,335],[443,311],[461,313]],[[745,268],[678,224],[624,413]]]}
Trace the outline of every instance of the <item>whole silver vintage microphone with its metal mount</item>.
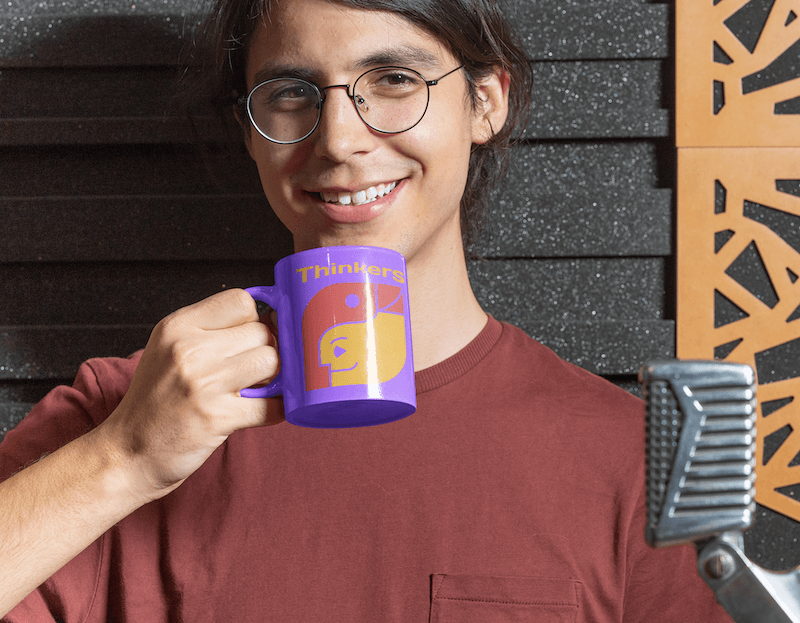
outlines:
{"label": "whole silver vintage microphone with its metal mount", "polygon": [[645,400],[652,547],[694,543],[697,571],[736,623],[800,623],[800,567],[767,571],[744,553],[755,519],[756,385],[750,366],[653,361]]}

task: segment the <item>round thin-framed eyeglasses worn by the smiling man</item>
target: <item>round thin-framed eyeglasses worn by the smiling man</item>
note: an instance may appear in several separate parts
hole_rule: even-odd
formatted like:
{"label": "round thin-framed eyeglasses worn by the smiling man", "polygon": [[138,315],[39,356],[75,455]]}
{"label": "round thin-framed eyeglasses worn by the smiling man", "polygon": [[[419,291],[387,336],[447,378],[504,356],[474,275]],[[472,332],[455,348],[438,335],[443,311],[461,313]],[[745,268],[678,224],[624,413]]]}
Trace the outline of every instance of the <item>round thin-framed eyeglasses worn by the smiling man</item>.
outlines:
{"label": "round thin-framed eyeglasses worn by the smiling man", "polygon": [[430,87],[462,67],[435,80],[425,80],[406,67],[378,67],[361,74],[352,93],[349,84],[319,88],[299,78],[273,78],[253,87],[239,103],[247,104],[250,121],[264,138],[273,143],[299,143],[317,129],[326,91],[343,88],[365,124],[383,134],[399,134],[422,121]]}

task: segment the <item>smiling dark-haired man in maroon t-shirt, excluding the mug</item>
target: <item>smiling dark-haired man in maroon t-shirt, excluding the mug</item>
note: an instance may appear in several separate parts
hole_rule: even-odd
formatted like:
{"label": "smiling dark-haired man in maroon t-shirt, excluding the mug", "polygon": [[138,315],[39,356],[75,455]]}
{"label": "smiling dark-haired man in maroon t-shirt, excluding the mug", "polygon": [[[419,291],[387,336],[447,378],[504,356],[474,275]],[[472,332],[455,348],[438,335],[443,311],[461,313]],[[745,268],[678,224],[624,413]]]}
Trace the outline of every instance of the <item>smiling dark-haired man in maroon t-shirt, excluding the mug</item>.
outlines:
{"label": "smiling dark-haired man in maroon t-shirt, excluding the mug", "polygon": [[[252,299],[176,312],[0,448],[3,478],[47,454],[0,486],[0,612],[23,600],[4,620],[726,620],[691,551],[643,542],[638,401],[470,288],[465,214],[528,88],[497,9],[229,0],[206,30],[295,249],[405,255],[418,411],[269,427],[280,399],[239,396],[279,366]],[[385,67],[393,88],[424,86],[419,119],[366,113],[356,87]],[[264,101],[290,105],[264,112],[277,79]],[[275,120],[304,97],[314,123]]]}

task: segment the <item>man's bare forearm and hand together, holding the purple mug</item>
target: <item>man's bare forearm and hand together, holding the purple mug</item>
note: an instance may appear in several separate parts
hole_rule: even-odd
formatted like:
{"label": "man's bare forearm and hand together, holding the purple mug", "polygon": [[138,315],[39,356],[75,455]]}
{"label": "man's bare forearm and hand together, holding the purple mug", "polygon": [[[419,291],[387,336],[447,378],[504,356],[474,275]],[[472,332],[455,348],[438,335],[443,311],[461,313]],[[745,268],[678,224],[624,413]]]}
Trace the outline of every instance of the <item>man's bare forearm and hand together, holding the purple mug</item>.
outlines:
{"label": "man's bare forearm and hand together, holding the purple mug", "polygon": [[277,370],[244,291],[159,323],[113,413],[0,484],[0,618],[115,523],[180,486],[228,435],[282,421],[280,399],[239,395]]}

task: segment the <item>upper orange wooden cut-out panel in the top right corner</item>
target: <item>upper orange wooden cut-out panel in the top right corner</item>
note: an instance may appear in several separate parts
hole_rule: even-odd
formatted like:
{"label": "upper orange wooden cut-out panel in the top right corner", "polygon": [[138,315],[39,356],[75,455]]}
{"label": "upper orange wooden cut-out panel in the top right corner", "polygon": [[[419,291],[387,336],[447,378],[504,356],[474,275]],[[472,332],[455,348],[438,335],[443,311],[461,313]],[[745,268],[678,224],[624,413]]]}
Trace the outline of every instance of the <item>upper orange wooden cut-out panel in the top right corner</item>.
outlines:
{"label": "upper orange wooden cut-out panel in the top right corner", "polygon": [[800,0],[678,0],[675,13],[678,147],[800,146]]}

